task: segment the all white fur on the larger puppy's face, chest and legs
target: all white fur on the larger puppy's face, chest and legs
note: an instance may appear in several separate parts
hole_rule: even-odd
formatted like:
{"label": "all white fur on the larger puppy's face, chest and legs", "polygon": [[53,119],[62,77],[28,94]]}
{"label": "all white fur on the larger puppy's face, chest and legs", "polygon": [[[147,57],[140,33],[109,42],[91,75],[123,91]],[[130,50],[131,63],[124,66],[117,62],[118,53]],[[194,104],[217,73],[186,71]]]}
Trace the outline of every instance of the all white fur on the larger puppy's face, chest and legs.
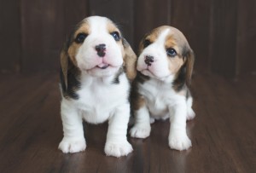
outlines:
{"label": "all white fur on the larger puppy's face, chest and legs", "polygon": [[[123,58],[119,45],[106,30],[107,18],[90,17],[89,35],[79,48],[76,56],[81,69],[81,87],[77,91],[79,100],[66,99],[61,101],[61,119],[64,137],[59,145],[63,153],[84,151],[83,119],[91,124],[100,124],[108,120],[108,134],[105,153],[120,157],[131,153],[131,144],[126,139],[126,130],[130,118],[128,101],[130,84],[122,73],[119,84],[112,84],[113,78]],[[106,43],[107,52],[104,58],[96,56],[95,45]],[[108,63],[107,69],[95,68],[100,63]],[[90,70],[94,68],[93,70]]]}

